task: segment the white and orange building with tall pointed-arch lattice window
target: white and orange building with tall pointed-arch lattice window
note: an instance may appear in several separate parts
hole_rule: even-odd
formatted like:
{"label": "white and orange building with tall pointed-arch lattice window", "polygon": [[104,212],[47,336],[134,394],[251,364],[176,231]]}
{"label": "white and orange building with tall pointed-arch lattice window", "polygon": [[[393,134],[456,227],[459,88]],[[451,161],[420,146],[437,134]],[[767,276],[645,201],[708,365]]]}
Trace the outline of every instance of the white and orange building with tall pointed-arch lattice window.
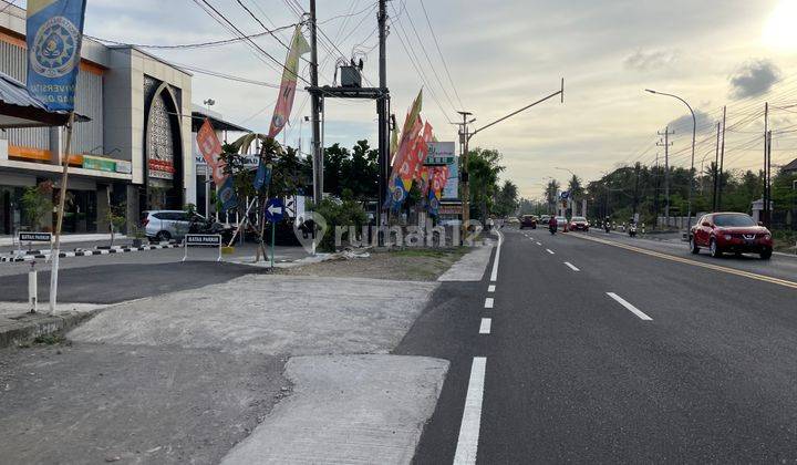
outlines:
{"label": "white and orange building with tall pointed-arch lattice window", "polygon": [[[0,12],[0,72],[21,82],[24,17],[14,6]],[[136,48],[84,39],[75,111],[91,121],[74,125],[64,232],[107,231],[112,206],[134,225],[143,210],[196,203],[190,99],[190,73]],[[53,183],[55,198],[64,148],[60,127],[0,132],[0,235],[30,227],[29,187]],[[52,215],[41,221],[52,223]]]}

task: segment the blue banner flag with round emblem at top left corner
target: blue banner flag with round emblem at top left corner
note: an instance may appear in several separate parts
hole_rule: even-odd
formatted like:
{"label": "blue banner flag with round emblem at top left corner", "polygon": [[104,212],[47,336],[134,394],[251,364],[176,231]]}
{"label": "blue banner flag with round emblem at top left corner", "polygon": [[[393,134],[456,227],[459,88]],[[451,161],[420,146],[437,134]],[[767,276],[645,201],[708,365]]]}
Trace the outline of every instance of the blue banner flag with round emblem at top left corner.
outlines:
{"label": "blue banner flag with round emblem at top left corner", "polygon": [[86,0],[28,0],[28,92],[50,111],[74,111]]}

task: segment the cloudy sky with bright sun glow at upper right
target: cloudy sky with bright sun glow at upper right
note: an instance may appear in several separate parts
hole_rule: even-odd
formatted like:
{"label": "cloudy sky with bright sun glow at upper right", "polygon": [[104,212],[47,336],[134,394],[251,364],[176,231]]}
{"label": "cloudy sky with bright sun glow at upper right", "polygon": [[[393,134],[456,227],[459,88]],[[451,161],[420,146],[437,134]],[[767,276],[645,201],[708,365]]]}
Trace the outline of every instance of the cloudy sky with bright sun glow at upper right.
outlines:
{"label": "cloudy sky with bright sun glow at upper right", "polygon": [[[209,0],[247,33],[262,31],[237,0]],[[296,23],[308,0],[241,0],[266,25]],[[365,54],[365,76],[377,82],[375,1],[319,0],[319,21],[335,55]],[[288,4],[293,6],[293,9]],[[425,7],[429,22],[424,14]],[[797,156],[797,0],[392,0],[389,2],[389,85],[400,122],[423,86],[424,115],[439,140],[454,140],[456,110],[486,124],[559,87],[566,100],[547,102],[479,134],[474,144],[497,148],[505,178],[538,197],[548,176],[566,169],[583,179],[618,164],[652,164],[656,131],[670,123],[672,163],[689,164],[691,117],[680,102],[646,94],[676,93],[698,120],[696,165],[713,158],[716,121],[728,106],[726,165],[757,167],[763,149],[764,102],[775,105],[774,163]],[[445,56],[437,52],[429,23]],[[126,43],[184,44],[228,39],[193,0],[89,0],[87,34]],[[289,32],[281,38],[287,43]],[[257,40],[283,60],[275,39]],[[245,44],[200,50],[151,50],[175,63],[277,84],[280,73]],[[412,59],[408,55],[414,55]],[[429,61],[426,59],[428,55]],[[321,82],[332,81],[338,56],[321,50]],[[453,85],[446,72],[451,73]],[[421,70],[418,73],[417,70]],[[308,76],[307,66],[303,75]],[[196,74],[194,101],[213,97],[229,121],[266,132],[277,90]],[[462,101],[462,102],[460,102]],[[300,112],[301,111],[301,112]],[[307,115],[303,93],[294,116]],[[327,105],[325,143],[375,140],[375,110],[366,102]],[[300,136],[298,118],[288,142]],[[303,126],[304,141],[309,140]],[[307,146],[307,145],[306,145]],[[565,169],[557,169],[565,168]]]}

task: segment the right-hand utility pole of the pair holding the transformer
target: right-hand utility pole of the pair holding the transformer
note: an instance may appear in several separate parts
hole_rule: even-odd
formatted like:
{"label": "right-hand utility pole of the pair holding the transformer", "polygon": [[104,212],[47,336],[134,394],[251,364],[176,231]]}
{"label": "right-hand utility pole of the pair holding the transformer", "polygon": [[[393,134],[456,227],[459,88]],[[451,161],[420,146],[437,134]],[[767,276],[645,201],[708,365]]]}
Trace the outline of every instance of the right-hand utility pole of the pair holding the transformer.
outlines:
{"label": "right-hand utility pole of the pair holding the transformer", "polygon": [[[390,128],[389,124],[389,102],[387,93],[387,9],[385,0],[379,2],[379,31],[380,31],[380,92],[382,95],[376,101],[376,114],[379,120],[379,205],[376,206],[376,226],[382,226],[382,209],[385,204],[385,195],[387,193],[387,170],[390,169]],[[379,232],[377,232],[379,234]],[[383,238],[380,236],[377,242],[382,246]]]}

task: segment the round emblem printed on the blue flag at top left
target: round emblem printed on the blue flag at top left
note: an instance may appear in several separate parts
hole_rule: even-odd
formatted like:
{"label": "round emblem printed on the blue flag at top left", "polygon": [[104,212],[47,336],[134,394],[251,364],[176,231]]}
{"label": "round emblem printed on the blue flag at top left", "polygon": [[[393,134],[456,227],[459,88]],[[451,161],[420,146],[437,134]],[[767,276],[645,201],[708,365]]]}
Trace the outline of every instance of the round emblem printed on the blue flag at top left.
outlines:
{"label": "round emblem printed on the blue flag at top left", "polygon": [[64,17],[50,18],[37,31],[30,60],[33,71],[45,78],[61,78],[77,64],[80,31]]}

